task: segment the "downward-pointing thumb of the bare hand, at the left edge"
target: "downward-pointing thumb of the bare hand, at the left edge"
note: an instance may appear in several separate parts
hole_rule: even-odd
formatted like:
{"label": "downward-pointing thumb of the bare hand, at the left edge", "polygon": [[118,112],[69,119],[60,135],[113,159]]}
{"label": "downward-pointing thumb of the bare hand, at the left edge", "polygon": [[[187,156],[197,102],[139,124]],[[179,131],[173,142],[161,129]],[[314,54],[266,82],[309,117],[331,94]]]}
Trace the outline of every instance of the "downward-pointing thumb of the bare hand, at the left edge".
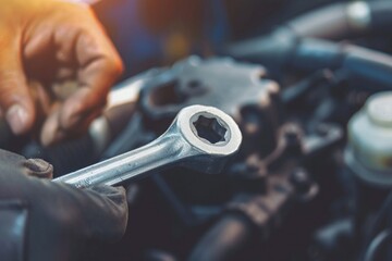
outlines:
{"label": "downward-pointing thumb of the bare hand, at the left edge", "polygon": [[0,109],[12,132],[28,132],[35,110],[22,64],[21,37],[0,32]]}

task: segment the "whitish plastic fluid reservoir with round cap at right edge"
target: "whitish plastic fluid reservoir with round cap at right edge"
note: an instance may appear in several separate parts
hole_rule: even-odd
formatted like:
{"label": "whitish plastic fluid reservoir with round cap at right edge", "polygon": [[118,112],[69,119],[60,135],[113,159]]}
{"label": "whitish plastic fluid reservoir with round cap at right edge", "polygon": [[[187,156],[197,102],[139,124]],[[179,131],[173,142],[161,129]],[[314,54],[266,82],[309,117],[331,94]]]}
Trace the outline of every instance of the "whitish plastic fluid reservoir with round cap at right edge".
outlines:
{"label": "whitish plastic fluid reservoir with round cap at right edge", "polygon": [[366,183],[392,187],[392,91],[371,96],[347,132],[347,166]]}

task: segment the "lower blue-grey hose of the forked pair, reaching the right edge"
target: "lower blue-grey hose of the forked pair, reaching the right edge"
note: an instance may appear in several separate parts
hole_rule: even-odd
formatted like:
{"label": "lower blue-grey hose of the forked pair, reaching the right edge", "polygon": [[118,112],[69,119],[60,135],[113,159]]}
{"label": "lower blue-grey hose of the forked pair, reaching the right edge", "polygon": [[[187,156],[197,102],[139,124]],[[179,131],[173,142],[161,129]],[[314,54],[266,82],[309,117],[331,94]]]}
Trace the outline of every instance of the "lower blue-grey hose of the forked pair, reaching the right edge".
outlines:
{"label": "lower blue-grey hose of the forked pair, reaching the right edge", "polygon": [[260,63],[274,76],[283,72],[314,73],[323,69],[343,69],[354,84],[392,87],[392,57],[347,44],[313,38],[295,38],[280,30],[270,38],[250,40],[230,49],[237,60]]}

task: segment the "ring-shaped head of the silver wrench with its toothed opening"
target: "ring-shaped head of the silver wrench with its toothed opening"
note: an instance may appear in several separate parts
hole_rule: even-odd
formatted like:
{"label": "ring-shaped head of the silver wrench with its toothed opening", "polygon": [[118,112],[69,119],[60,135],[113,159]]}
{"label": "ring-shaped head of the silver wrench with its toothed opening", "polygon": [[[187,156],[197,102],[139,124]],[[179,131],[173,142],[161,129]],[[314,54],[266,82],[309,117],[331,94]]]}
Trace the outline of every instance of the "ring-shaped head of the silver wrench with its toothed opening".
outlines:
{"label": "ring-shaped head of the silver wrench with its toothed opening", "polygon": [[237,124],[217,108],[187,107],[180,111],[174,123],[193,154],[182,163],[188,169],[220,172],[241,147],[242,134]]}

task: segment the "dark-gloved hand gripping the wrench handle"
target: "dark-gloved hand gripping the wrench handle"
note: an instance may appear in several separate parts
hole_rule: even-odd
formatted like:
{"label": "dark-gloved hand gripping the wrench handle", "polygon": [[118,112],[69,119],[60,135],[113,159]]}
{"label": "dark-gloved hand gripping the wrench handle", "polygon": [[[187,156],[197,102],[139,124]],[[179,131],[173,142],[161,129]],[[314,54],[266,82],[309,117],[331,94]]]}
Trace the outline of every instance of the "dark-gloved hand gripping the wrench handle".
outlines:
{"label": "dark-gloved hand gripping the wrench handle", "polygon": [[45,178],[50,164],[0,150],[0,260],[76,261],[89,244],[119,239],[122,188],[77,189]]}

